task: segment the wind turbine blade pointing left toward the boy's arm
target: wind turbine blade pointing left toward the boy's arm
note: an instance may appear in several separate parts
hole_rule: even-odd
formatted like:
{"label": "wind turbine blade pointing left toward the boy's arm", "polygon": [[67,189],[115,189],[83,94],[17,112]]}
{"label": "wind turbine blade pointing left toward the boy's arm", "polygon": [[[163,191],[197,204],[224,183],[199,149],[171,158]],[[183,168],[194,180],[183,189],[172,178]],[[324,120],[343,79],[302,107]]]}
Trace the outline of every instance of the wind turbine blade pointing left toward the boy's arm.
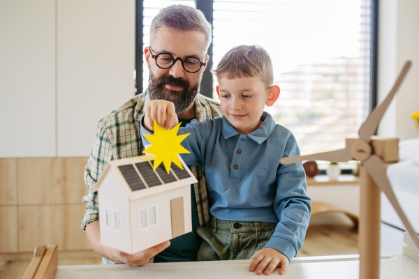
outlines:
{"label": "wind turbine blade pointing left toward the boy's arm", "polygon": [[352,159],[351,149],[337,149],[333,151],[321,152],[321,153],[314,153],[304,156],[293,156],[293,157],[286,157],[281,159],[282,165],[289,165],[297,162],[301,162],[304,160],[324,160],[329,162],[348,162],[348,160]]}

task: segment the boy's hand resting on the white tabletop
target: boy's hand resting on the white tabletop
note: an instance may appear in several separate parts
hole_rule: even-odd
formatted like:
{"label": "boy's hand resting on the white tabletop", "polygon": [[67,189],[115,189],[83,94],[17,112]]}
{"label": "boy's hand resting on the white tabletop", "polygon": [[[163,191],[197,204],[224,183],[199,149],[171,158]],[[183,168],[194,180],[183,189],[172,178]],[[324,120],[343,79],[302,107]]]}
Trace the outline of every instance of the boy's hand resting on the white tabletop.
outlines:
{"label": "boy's hand resting on the white tabletop", "polygon": [[[278,252],[274,248],[263,248],[256,251],[250,259],[251,262],[249,271],[253,272],[256,270],[256,274],[260,275],[265,271],[265,275],[270,275],[277,266],[280,267],[279,274],[284,274],[290,261],[281,252]],[[258,267],[256,269],[256,266]]]}

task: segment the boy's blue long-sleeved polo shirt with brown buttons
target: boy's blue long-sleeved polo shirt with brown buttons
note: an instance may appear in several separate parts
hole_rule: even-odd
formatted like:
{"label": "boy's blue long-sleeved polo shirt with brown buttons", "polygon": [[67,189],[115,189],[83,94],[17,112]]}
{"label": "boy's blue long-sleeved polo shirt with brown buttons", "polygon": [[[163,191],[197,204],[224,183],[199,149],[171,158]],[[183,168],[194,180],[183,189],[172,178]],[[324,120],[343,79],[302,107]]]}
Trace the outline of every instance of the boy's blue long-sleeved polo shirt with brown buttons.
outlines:
{"label": "boy's blue long-sleeved polo shirt with brown buttons", "polygon": [[[249,135],[240,135],[224,116],[193,120],[179,128],[179,135],[191,134],[182,142],[191,153],[181,156],[186,165],[204,167],[212,216],[276,223],[265,248],[291,260],[304,241],[311,199],[302,163],[281,165],[279,160],[300,155],[300,149],[291,131],[275,124],[270,114],[263,112],[260,120]],[[141,133],[151,134],[143,126]]]}

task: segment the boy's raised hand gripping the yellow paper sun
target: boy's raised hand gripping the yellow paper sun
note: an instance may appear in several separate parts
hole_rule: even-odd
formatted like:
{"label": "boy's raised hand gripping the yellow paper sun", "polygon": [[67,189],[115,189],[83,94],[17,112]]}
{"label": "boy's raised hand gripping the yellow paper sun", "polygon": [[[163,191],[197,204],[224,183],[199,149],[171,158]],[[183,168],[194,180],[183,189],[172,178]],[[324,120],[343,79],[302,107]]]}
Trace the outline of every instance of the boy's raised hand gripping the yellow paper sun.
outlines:
{"label": "boy's raised hand gripping the yellow paper sun", "polygon": [[168,100],[150,100],[145,106],[144,126],[147,130],[154,130],[154,120],[159,127],[169,130],[179,121],[175,112],[175,105]]}

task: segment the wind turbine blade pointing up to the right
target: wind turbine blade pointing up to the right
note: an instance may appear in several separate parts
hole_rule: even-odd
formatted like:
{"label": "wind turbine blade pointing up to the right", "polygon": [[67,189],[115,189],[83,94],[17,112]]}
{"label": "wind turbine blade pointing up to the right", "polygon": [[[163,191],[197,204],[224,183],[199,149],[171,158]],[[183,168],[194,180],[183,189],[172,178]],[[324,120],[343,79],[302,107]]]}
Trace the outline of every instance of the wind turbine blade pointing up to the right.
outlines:
{"label": "wind turbine blade pointing up to the right", "polygon": [[388,105],[390,105],[392,98],[395,96],[397,89],[399,89],[400,84],[402,84],[404,77],[406,76],[406,73],[409,71],[409,68],[411,66],[411,61],[407,61],[404,64],[404,67],[402,69],[402,72],[400,73],[399,77],[397,77],[397,80],[395,82],[395,85],[393,85],[390,93],[388,93],[388,96],[385,97],[385,100],[383,100],[383,103],[378,105],[371,114],[367,117],[367,120],[365,120],[364,123],[362,123],[360,130],[358,130],[358,135],[360,136],[361,140],[365,140],[366,142],[370,141],[370,137],[375,134],[378,125],[380,124],[381,118],[383,118],[383,114],[385,113],[385,110],[387,110]]}

